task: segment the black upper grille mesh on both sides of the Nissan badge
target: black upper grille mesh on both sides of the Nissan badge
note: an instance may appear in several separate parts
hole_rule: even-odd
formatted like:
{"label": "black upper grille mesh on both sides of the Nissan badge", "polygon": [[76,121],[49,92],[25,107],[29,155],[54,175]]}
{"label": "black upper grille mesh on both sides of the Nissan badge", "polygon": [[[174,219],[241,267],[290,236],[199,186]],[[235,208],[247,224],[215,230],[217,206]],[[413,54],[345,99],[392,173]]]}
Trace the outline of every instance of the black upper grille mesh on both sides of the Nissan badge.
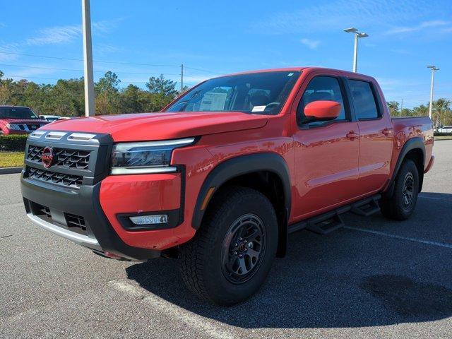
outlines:
{"label": "black upper grille mesh on both sides of the Nissan badge", "polygon": [[[40,162],[43,146],[29,145],[27,159]],[[90,162],[89,150],[70,150],[68,148],[54,148],[54,162],[52,166],[65,168],[88,169]]]}

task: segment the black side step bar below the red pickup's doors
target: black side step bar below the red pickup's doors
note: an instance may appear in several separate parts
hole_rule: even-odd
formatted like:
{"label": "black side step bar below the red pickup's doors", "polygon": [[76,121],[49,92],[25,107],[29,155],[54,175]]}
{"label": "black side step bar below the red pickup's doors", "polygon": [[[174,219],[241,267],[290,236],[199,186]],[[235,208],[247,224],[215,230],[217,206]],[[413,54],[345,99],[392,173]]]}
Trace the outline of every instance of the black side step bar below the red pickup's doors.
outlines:
{"label": "black side step bar below the red pickup's doors", "polygon": [[316,215],[313,218],[297,222],[296,224],[289,226],[289,233],[303,229],[307,229],[317,234],[331,233],[344,226],[344,222],[340,217],[343,213],[352,212],[367,217],[378,212],[380,210],[378,203],[380,198],[381,195],[376,194],[370,198],[365,198],[355,203],[351,203],[350,205],[342,206],[321,215]]}

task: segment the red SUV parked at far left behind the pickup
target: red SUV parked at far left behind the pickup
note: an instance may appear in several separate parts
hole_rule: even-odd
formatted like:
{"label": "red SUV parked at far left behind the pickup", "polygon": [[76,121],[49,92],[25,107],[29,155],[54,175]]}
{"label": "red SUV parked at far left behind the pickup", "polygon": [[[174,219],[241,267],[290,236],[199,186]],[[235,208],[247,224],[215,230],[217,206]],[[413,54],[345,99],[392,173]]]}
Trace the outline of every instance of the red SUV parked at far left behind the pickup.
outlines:
{"label": "red SUV parked at far left behind the pickup", "polygon": [[49,121],[41,119],[35,112],[23,106],[0,106],[0,135],[28,134]]}

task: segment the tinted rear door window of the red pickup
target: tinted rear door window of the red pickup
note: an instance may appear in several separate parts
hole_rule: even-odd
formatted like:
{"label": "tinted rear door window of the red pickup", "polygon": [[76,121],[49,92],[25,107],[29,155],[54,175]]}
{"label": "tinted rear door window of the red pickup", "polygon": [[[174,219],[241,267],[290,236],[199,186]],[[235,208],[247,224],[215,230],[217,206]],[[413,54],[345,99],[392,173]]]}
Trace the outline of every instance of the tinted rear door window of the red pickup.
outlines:
{"label": "tinted rear door window of the red pickup", "polygon": [[349,80],[348,83],[355,102],[356,119],[378,119],[379,109],[370,83],[359,80]]}

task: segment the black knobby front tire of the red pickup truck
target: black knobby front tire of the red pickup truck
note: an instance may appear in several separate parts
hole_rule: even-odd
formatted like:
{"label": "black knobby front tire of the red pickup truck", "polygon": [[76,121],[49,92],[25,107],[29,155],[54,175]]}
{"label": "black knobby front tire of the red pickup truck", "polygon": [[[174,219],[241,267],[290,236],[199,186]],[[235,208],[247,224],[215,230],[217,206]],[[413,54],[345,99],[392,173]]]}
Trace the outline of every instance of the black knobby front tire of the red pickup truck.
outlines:
{"label": "black knobby front tire of the red pickup truck", "polygon": [[[225,249],[225,242],[232,239],[227,234],[231,234],[234,222],[244,215],[254,215],[261,220],[263,227],[260,230],[263,230],[262,239],[265,237],[265,248],[259,256],[259,266],[256,266],[250,278],[236,283],[230,281],[232,273],[225,274],[223,260],[227,258],[225,256],[231,256],[230,249]],[[254,189],[232,186],[214,196],[194,239],[179,249],[182,278],[189,290],[201,299],[226,306],[237,304],[254,295],[263,285],[277,247],[278,220],[268,198]]]}

